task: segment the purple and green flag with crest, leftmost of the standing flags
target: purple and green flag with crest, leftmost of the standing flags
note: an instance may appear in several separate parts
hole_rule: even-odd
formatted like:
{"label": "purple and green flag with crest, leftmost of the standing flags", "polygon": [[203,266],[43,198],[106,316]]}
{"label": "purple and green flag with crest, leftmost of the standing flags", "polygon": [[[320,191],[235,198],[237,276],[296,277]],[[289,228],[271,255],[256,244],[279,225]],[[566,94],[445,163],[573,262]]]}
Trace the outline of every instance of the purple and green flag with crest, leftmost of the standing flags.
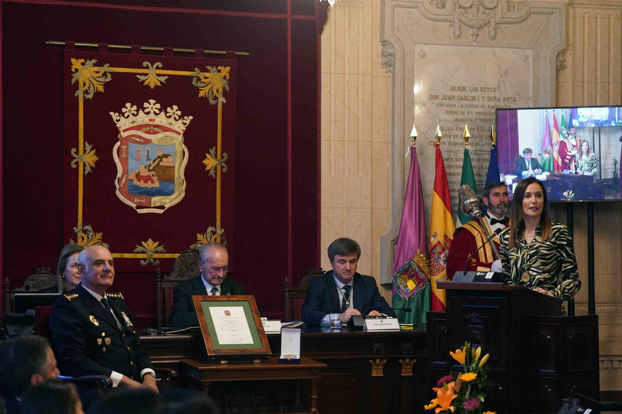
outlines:
{"label": "purple and green flag with crest, leftmost of the standing flags", "polygon": [[[413,135],[414,134],[414,135]],[[417,131],[412,127],[411,136]],[[430,269],[427,263],[425,238],[424,195],[421,190],[417,149],[411,147],[411,171],[406,183],[404,210],[393,262],[393,308],[410,308],[411,312],[396,311],[400,323],[425,323],[430,302]]]}

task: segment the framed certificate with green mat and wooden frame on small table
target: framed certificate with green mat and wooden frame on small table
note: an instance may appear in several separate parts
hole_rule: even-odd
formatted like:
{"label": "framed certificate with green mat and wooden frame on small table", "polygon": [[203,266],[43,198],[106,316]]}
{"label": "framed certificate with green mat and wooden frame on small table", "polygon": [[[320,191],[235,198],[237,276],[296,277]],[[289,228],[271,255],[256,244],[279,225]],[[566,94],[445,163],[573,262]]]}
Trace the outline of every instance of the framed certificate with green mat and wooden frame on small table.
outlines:
{"label": "framed certificate with green mat and wooden frame on small table", "polygon": [[251,364],[268,362],[271,354],[252,295],[193,296],[203,341],[204,362]]}

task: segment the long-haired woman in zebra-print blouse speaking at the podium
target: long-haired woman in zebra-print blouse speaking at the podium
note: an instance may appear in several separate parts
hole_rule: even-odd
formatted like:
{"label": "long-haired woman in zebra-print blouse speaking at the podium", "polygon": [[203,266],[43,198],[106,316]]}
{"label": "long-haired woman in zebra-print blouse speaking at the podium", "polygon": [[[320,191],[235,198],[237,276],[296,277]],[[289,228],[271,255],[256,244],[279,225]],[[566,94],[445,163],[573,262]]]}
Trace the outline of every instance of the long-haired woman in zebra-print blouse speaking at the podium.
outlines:
{"label": "long-haired woman in zebra-print blouse speaking at the podium", "polygon": [[570,300],[581,287],[572,237],[564,224],[550,221],[547,208],[540,180],[529,177],[518,183],[511,224],[499,235],[503,276],[508,285]]}

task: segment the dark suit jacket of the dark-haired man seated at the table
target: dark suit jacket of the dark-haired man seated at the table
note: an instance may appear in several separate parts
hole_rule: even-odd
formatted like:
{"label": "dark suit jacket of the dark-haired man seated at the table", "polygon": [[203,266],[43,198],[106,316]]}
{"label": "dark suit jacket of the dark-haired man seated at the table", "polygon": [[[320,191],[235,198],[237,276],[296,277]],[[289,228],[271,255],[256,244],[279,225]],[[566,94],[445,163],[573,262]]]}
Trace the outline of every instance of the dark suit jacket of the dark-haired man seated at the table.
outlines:
{"label": "dark suit jacket of the dark-haired man seated at the table", "polygon": [[[361,314],[367,308],[374,308],[380,313],[396,317],[395,312],[388,309],[391,306],[378,292],[376,279],[371,276],[355,273],[352,296],[354,307]],[[318,324],[328,313],[341,313],[341,302],[332,270],[328,270],[323,277],[314,277],[309,281],[307,297],[302,305],[302,321]]]}

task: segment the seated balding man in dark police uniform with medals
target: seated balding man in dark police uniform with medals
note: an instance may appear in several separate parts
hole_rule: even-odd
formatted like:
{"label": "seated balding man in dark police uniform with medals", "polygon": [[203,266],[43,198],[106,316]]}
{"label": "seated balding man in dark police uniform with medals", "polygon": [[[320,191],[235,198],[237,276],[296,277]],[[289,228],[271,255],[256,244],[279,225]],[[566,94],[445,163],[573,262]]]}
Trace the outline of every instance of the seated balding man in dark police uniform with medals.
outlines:
{"label": "seated balding man in dark police uniform with medals", "polygon": [[81,283],[55,303],[50,315],[53,344],[63,375],[106,375],[113,387],[152,390],[178,400],[193,390],[156,384],[151,358],[136,334],[121,293],[106,292],[114,281],[113,257],[103,246],[78,256]]}

